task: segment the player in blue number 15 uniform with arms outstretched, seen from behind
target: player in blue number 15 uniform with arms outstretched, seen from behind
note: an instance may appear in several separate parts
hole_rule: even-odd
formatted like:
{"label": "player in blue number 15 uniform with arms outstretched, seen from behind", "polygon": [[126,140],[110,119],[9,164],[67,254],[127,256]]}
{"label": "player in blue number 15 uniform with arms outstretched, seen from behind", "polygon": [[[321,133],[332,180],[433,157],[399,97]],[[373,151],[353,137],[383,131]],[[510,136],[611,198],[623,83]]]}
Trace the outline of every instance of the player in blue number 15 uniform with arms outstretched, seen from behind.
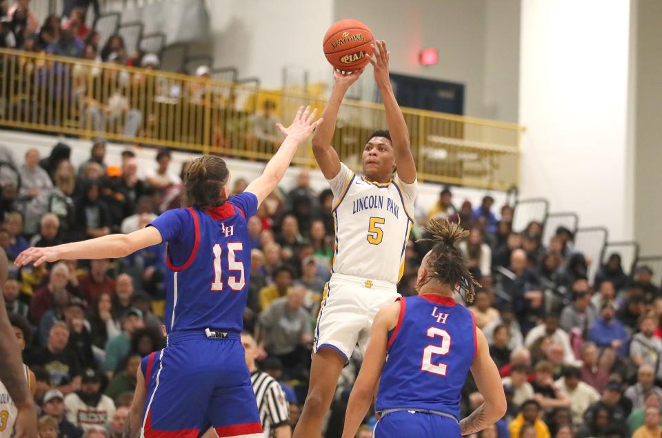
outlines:
{"label": "player in blue number 15 uniform with arms outstretched, seen from behind", "polygon": [[198,437],[213,427],[219,437],[262,437],[240,341],[250,272],[247,222],[281,181],[299,144],[321,123],[314,122],[316,114],[301,107],[289,128],[277,125],[286,135],[283,144],[261,177],[239,195],[228,199],[225,161],[205,155],[192,162],[183,181],[188,208],[165,212],[130,235],[30,248],[14,262],[39,266],[59,259],[126,257],[167,244],[168,344],[152,357],[149,372],[149,366],[144,370],[142,436]]}

